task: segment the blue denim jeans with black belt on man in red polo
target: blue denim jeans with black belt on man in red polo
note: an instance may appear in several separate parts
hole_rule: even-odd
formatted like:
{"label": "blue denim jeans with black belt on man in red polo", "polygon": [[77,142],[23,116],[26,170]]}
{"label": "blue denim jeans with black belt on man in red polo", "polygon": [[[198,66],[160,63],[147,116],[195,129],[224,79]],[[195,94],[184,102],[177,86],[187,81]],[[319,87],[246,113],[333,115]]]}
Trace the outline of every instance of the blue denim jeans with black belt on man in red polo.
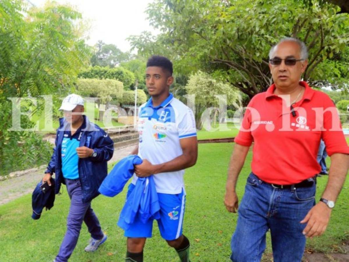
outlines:
{"label": "blue denim jeans with black belt on man in red polo", "polygon": [[231,239],[231,260],[260,261],[270,230],[274,261],[301,261],[305,247],[302,232],[306,225],[299,222],[315,204],[315,189],[315,183],[295,190],[274,188],[251,173]]}

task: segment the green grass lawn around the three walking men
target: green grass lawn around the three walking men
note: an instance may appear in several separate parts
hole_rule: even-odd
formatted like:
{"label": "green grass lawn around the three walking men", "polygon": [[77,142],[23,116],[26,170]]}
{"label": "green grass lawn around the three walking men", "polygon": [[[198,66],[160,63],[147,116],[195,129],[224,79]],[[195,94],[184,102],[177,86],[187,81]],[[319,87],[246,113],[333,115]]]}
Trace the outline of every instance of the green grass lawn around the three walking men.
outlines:
{"label": "green grass lawn around the three walking men", "polygon": [[[230,238],[237,215],[228,213],[223,204],[225,181],[232,143],[199,144],[199,158],[194,167],[186,170],[186,213],[183,233],[191,241],[191,261],[230,261]],[[245,181],[250,173],[252,154],[249,152],[240,174],[237,192],[244,193]],[[329,158],[328,158],[329,160]],[[329,164],[329,162],[328,162]],[[111,165],[109,165],[111,168]],[[318,179],[318,200],[324,190],[326,176]],[[331,252],[338,250],[341,242],[349,238],[349,179],[336,202],[325,234],[308,240],[307,247]],[[126,239],[116,225],[124,204],[125,191],[113,198],[99,196],[92,207],[109,238],[96,252],[86,253],[89,234],[83,225],[79,242],[69,261],[123,261]],[[58,252],[66,230],[69,199],[64,187],[56,197],[54,207],[44,211],[39,220],[31,219],[31,195],[0,206],[0,261],[52,261]],[[268,234],[267,251],[271,253]],[[153,238],[147,240],[144,261],[178,261],[173,248],[161,239],[154,223]]]}

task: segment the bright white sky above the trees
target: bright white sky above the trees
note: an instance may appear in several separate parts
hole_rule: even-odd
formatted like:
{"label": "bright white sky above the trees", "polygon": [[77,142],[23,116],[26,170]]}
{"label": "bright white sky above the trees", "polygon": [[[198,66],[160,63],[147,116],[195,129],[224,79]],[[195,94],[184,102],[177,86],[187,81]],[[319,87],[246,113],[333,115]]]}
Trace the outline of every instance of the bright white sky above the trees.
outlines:
{"label": "bright white sky above the trees", "polygon": [[[37,7],[42,7],[46,0],[30,0]],[[130,45],[126,38],[130,35],[140,35],[142,31],[154,29],[146,20],[144,11],[152,0],[56,0],[60,4],[75,6],[82,17],[91,26],[87,32],[89,45],[95,45],[98,40],[114,44],[126,52]]]}

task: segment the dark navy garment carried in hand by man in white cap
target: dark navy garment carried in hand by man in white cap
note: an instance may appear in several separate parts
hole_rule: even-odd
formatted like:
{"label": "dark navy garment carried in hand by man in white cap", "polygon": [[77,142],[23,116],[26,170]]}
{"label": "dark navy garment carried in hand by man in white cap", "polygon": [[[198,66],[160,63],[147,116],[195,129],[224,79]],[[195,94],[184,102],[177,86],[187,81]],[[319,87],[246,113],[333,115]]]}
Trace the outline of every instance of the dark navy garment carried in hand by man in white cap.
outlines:
{"label": "dark navy garment carried in hand by man in white cap", "polygon": [[47,192],[42,192],[40,186],[42,181],[40,181],[31,195],[31,206],[33,208],[32,219],[39,219],[41,212],[44,208],[51,209],[54,203],[54,179],[51,178],[51,186],[47,189]]}

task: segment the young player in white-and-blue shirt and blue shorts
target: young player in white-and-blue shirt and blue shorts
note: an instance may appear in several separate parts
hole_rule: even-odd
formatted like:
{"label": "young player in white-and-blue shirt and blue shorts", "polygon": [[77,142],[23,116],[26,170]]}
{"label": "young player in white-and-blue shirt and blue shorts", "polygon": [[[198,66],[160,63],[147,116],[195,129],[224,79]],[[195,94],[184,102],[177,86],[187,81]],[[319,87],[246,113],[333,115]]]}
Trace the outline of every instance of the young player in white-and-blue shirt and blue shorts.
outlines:
{"label": "young player in white-and-blue shirt and blue shorts", "polygon": [[[146,84],[151,98],[140,107],[139,144],[132,152],[143,162],[134,167],[136,175],[127,198],[139,178],[153,175],[161,236],[176,250],[181,262],[188,262],[190,242],[182,233],[186,196],[183,175],[184,169],[196,163],[198,142],[193,112],[169,92],[172,71],[171,61],[165,57],[153,56],[147,62]],[[143,223],[138,217],[125,230],[126,261],[143,261],[143,248],[152,227],[153,219]]]}

